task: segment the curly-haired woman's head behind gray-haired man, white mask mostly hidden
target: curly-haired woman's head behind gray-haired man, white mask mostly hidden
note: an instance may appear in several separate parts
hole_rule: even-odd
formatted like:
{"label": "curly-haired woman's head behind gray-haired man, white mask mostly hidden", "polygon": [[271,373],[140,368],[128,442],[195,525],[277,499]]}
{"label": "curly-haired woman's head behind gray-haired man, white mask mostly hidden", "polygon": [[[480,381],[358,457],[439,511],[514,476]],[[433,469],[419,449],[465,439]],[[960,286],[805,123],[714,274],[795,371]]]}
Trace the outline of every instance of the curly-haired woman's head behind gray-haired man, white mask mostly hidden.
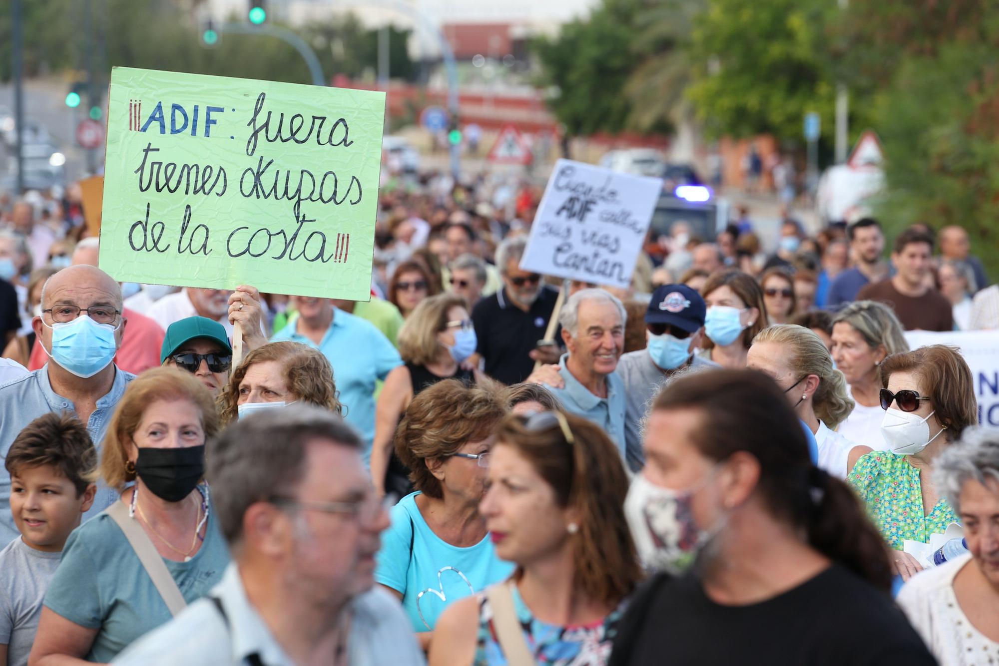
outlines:
{"label": "curly-haired woman's head behind gray-haired man, white mask mostly hidden", "polygon": [[246,355],[218,397],[219,415],[228,425],[253,411],[308,402],[342,414],[330,361],[302,342],[280,341]]}

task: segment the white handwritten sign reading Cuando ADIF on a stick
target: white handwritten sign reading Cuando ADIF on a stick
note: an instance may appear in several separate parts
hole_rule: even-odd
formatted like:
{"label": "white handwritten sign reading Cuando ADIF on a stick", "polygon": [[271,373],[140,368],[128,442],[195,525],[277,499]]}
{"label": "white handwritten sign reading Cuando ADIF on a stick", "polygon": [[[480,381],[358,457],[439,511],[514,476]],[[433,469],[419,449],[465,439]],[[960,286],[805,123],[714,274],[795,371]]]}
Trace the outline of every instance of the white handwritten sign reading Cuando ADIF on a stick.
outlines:
{"label": "white handwritten sign reading Cuando ADIF on a stick", "polygon": [[520,269],[627,287],[661,192],[657,178],[558,160],[537,207]]}

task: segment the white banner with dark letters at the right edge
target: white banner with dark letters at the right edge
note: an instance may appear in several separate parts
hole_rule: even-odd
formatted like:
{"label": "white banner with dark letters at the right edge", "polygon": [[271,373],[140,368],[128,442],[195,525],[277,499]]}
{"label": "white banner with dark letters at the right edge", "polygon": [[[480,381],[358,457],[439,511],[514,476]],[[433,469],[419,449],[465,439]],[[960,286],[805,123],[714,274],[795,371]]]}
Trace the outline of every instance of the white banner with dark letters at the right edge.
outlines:
{"label": "white banner with dark letters at the right edge", "polygon": [[958,347],[975,382],[978,399],[978,421],[982,425],[999,425],[999,344],[994,331],[954,331],[932,333],[907,331],[909,347],[917,349],[927,344],[949,344]]}

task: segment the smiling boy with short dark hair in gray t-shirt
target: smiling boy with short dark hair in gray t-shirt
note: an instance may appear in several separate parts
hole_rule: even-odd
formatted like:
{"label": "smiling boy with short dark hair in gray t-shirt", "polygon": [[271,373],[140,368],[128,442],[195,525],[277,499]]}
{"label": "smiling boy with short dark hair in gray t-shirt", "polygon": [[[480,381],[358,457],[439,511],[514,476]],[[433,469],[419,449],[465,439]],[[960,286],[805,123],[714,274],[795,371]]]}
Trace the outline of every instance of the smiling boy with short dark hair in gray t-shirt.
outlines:
{"label": "smiling boy with short dark hair in gray t-shirt", "polygon": [[25,666],[63,546],[94,503],[97,450],[80,419],[51,412],[21,430],[4,466],[21,538],[0,550],[0,666]]}

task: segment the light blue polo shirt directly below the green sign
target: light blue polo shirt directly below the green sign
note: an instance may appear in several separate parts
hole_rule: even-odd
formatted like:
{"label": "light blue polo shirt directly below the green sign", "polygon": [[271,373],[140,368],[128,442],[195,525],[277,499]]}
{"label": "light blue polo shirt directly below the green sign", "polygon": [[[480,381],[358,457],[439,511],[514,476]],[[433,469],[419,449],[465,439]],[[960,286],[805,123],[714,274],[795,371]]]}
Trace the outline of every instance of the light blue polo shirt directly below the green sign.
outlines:
{"label": "light blue polo shirt directly below the green sign", "polygon": [[302,342],[318,348],[329,359],[345,407],[344,420],[361,432],[366,444],[365,464],[368,464],[375,439],[375,382],[402,365],[403,358],[374,324],[337,308],[333,312],[333,326],[318,345],[298,333],[298,324],[298,318],[293,319],[271,340]]}

